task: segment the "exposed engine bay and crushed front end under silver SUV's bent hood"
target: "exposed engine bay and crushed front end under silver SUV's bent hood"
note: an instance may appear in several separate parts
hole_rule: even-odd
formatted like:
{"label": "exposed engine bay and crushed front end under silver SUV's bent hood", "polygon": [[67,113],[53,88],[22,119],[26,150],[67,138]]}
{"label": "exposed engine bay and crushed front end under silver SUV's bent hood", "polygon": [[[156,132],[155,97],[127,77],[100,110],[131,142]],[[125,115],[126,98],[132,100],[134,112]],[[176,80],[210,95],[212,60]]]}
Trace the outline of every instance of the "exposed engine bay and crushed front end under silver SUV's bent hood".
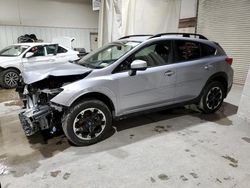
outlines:
{"label": "exposed engine bay and crushed front end under silver SUV's bent hood", "polygon": [[61,87],[86,77],[88,73],[70,76],[49,76],[32,84],[20,81],[16,91],[24,104],[19,119],[26,136],[40,130],[55,131],[61,126],[63,106],[50,102],[63,89]]}

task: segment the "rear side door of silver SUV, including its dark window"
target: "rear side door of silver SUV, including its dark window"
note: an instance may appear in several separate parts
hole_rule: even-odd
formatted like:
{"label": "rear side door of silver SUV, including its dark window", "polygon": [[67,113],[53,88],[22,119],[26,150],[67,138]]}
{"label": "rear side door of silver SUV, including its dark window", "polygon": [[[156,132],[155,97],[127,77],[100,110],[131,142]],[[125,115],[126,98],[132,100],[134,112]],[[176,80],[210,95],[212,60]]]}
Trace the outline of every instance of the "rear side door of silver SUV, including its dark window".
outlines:
{"label": "rear side door of silver SUV, including its dark window", "polygon": [[176,68],[176,101],[182,102],[197,97],[214,67],[211,56],[215,49],[192,40],[174,41]]}

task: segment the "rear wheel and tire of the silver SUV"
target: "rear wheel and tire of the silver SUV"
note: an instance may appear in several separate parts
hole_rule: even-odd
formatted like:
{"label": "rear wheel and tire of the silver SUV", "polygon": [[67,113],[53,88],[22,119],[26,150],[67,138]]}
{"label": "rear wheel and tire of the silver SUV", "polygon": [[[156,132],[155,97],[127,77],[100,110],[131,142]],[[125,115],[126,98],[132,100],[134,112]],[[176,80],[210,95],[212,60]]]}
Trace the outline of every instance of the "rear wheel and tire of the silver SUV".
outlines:
{"label": "rear wheel and tire of the silver SUV", "polygon": [[222,83],[214,81],[209,83],[203,90],[199,109],[204,113],[214,113],[221,105],[226,96],[225,88]]}

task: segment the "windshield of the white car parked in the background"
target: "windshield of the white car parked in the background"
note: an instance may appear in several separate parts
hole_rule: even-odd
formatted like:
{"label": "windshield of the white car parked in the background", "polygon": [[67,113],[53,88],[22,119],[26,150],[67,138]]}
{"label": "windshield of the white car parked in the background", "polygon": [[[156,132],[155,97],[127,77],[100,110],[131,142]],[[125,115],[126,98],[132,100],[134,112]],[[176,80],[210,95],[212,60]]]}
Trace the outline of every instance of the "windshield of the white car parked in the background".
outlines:
{"label": "windshield of the white car parked in the background", "polygon": [[0,56],[15,57],[21,55],[29,46],[13,45],[0,51]]}

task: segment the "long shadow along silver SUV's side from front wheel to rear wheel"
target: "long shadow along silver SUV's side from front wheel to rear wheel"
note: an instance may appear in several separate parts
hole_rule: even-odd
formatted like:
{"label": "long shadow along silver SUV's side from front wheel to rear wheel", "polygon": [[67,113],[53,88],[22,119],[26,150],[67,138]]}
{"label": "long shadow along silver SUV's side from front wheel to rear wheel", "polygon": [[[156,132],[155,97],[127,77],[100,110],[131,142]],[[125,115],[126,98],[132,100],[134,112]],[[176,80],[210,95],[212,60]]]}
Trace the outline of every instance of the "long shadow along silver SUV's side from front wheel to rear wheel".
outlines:
{"label": "long shadow along silver SUV's side from front wheel to rear wheel", "polygon": [[181,131],[201,123],[216,122],[221,125],[231,125],[228,116],[237,113],[237,106],[224,103],[221,109],[214,114],[202,114],[198,111],[176,108],[141,115],[120,121],[115,121],[115,134],[100,143],[88,147],[78,147],[76,154],[83,155],[116,149],[128,144],[148,139],[158,134]]}

